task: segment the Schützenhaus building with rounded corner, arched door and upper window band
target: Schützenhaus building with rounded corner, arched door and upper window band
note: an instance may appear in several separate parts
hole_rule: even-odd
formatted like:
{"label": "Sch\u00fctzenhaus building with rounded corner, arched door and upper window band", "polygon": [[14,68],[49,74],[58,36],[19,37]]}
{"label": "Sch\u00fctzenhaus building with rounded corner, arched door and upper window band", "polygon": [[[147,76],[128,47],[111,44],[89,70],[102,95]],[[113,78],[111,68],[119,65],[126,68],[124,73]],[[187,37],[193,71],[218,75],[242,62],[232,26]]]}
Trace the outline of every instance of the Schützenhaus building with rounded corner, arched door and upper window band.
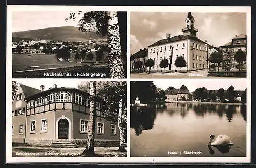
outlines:
{"label": "Sch\u00fctzenhaus building with rounded corner, arched door and upper window band", "polygon": [[[41,90],[19,84],[12,102],[12,142],[51,145],[59,141],[84,146],[89,126],[89,93],[76,88]],[[95,146],[118,146],[117,123],[103,117],[104,101],[96,103]]]}

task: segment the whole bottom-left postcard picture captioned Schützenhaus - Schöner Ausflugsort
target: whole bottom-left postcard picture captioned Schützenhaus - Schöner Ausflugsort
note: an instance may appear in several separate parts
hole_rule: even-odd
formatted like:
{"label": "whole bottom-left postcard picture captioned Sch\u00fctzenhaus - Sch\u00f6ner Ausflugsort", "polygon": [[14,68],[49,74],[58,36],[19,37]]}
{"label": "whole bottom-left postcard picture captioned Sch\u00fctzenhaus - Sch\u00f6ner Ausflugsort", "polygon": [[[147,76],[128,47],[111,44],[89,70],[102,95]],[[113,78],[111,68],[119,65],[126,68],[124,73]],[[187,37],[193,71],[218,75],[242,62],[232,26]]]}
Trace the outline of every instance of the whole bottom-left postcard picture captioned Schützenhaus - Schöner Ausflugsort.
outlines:
{"label": "whole bottom-left postcard picture captioned Sch\u00fctzenhaus - Sch\u00f6ner Ausflugsort", "polygon": [[127,157],[126,82],[66,80],[12,81],[12,157]]}

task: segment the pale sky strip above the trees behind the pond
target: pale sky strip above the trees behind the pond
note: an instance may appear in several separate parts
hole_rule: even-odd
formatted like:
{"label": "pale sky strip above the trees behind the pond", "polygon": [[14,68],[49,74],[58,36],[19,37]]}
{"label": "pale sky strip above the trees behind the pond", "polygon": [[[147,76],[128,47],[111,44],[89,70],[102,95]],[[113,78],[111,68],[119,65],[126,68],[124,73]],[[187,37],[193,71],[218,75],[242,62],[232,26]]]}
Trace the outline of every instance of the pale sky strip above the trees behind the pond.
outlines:
{"label": "pale sky strip above the trees behind the pond", "polygon": [[163,90],[166,90],[171,86],[179,89],[182,85],[185,85],[190,93],[201,87],[205,87],[208,90],[215,90],[220,88],[226,90],[232,85],[235,90],[246,89],[246,79],[168,79],[166,81],[154,80],[153,83],[157,88],[162,88]]}

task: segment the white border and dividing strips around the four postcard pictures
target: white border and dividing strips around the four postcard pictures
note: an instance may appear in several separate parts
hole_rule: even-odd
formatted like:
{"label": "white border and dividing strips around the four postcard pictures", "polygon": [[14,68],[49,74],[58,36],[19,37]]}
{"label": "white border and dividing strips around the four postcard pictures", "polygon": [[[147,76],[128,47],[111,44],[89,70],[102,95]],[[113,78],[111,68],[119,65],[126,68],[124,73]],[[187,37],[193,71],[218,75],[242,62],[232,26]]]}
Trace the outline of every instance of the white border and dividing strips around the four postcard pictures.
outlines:
{"label": "white border and dividing strips around the four postcard pictures", "polygon": [[[11,76],[12,76],[12,53],[11,53],[11,42],[12,42],[12,11],[127,11],[127,79],[94,79],[94,81],[127,81],[127,158],[93,158],[93,157],[67,157],[63,159],[62,157],[12,157],[12,136],[10,134],[6,135],[6,162],[7,163],[36,163],[36,162],[140,162],[140,163],[249,163],[250,156],[250,147],[251,147],[251,86],[250,86],[250,77],[251,77],[251,7],[231,7],[231,6],[7,6],[7,62],[6,62],[6,95],[7,100],[11,100]],[[130,12],[140,11],[140,12],[207,12],[207,13],[230,13],[230,12],[244,12],[246,13],[246,35],[247,35],[247,146],[246,146],[246,157],[132,157],[130,158],[130,81],[154,81],[154,79],[130,79]],[[22,81],[23,79],[15,79],[16,81]],[[24,79],[29,80],[29,79]],[[33,79],[31,79],[33,80]],[[38,79],[34,79],[38,80]],[[42,79],[45,80],[45,79]],[[55,79],[50,79],[55,80]],[[56,79],[59,80],[59,79]],[[66,79],[68,80],[68,79]],[[72,79],[76,80],[76,79]],[[83,81],[90,81],[91,79],[84,79]],[[157,79],[165,80],[165,79]],[[169,80],[169,79],[167,79]],[[177,79],[174,79],[177,80]],[[178,79],[179,80],[179,79]],[[187,79],[192,80],[192,79]],[[200,79],[202,80],[202,79]],[[207,79],[206,79],[207,80]],[[221,79],[225,80],[225,79]],[[9,114],[11,109],[11,101],[6,101],[6,113]],[[61,117],[60,117],[61,118]],[[69,119],[68,119],[69,121]],[[11,115],[6,115],[6,131],[11,131],[12,118]],[[71,123],[69,123],[71,124]],[[71,129],[71,125],[69,125]],[[69,132],[71,136],[71,132]],[[57,136],[55,137],[57,138]]]}

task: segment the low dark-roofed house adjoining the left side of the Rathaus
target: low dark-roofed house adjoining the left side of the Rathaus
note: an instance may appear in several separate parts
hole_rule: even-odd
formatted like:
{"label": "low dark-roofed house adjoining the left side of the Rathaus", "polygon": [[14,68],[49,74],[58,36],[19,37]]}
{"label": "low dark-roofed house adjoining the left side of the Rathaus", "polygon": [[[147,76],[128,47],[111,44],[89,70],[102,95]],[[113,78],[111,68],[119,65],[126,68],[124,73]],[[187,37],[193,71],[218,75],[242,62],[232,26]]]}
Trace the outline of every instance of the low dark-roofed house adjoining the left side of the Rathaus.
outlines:
{"label": "low dark-roofed house adjoining the left side of the Rathaus", "polygon": [[140,49],[138,52],[136,52],[135,54],[131,55],[130,57],[130,66],[131,66],[131,70],[136,69],[135,68],[135,63],[137,61],[141,61],[142,62],[142,68],[145,69],[145,62],[147,60],[147,52],[148,49],[144,48],[144,49]]}

